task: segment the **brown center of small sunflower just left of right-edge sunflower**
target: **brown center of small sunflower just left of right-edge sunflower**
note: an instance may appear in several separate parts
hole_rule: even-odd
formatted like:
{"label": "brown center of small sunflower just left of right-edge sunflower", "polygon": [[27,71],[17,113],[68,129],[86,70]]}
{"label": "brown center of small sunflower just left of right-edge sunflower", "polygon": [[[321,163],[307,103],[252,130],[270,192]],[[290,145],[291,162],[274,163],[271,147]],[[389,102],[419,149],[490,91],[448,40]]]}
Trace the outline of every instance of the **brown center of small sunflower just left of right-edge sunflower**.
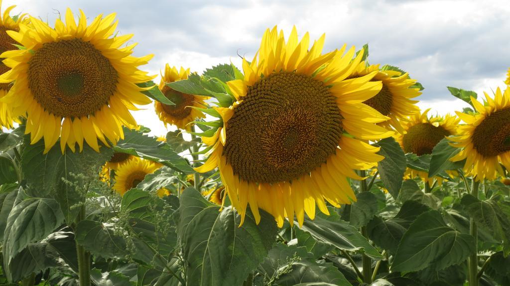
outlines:
{"label": "brown center of small sunflower just left of right-edge sunflower", "polygon": [[451,135],[450,131],[442,126],[433,126],[430,123],[416,124],[403,135],[404,152],[418,156],[430,154],[439,141],[448,135]]}

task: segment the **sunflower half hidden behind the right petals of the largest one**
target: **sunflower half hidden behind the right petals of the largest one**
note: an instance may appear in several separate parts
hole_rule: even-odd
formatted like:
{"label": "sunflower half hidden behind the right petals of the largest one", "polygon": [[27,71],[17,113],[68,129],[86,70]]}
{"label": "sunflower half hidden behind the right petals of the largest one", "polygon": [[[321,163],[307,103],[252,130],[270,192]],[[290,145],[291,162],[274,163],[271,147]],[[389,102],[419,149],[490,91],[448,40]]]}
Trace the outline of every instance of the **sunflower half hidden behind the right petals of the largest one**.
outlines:
{"label": "sunflower half hidden behind the right petals of the largest one", "polygon": [[411,99],[421,94],[420,89],[410,88],[416,83],[416,80],[411,79],[407,73],[381,70],[379,65],[367,67],[365,62],[361,62],[349,77],[365,76],[372,72],[377,72],[372,81],[382,81],[382,88],[377,95],[369,98],[364,103],[390,118],[390,120],[378,125],[388,129],[393,127],[402,133],[403,128],[399,121],[419,111],[418,106],[415,105],[418,101]]}

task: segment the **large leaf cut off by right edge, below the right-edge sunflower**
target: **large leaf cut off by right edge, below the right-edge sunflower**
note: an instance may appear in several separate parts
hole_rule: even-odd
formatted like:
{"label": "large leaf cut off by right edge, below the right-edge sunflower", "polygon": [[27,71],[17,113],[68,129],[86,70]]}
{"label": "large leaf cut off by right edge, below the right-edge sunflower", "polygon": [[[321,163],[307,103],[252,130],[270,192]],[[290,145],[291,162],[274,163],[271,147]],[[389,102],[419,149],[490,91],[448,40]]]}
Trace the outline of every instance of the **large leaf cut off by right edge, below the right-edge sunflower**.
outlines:
{"label": "large leaf cut off by right edge, below the right-edge sunflower", "polygon": [[479,201],[467,194],[462,198],[467,205],[469,216],[476,224],[489,232],[496,240],[503,242],[505,255],[510,253],[510,216],[506,215],[493,199]]}

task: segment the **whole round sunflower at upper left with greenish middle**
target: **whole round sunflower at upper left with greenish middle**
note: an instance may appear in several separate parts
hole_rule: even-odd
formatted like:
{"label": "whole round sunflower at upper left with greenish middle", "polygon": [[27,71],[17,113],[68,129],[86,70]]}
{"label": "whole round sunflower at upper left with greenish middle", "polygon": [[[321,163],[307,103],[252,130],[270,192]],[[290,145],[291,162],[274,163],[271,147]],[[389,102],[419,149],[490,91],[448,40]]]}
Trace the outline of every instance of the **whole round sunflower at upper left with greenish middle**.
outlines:
{"label": "whole round sunflower at upper left with greenish middle", "polygon": [[13,108],[15,116],[26,116],[25,133],[31,144],[44,137],[48,152],[60,137],[74,152],[83,141],[99,151],[97,139],[109,146],[123,138],[122,125],[137,126],[129,110],[134,104],[148,104],[136,83],[153,77],[138,70],[152,55],[135,58],[136,44],[120,47],[133,35],[114,37],[115,14],[97,16],[87,26],[80,10],[78,24],[70,9],[65,21],[57,19],[55,29],[30,17],[33,28],[19,24],[19,32],[7,31],[24,49],[0,55],[12,68],[0,76],[1,83],[14,81],[9,93],[0,101]]}

